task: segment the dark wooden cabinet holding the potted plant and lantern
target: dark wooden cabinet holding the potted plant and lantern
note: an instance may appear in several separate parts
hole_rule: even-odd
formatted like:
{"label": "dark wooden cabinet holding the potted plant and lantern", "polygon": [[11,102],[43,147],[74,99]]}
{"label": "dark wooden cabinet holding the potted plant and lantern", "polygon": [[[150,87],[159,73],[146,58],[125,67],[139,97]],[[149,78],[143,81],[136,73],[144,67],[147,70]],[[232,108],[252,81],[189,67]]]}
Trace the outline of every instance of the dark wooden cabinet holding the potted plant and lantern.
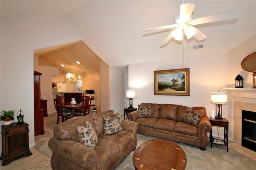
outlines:
{"label": "dark wooden cabinet holding the potted plant and lantern", "polygon": [[20,158],[21,156],[32,155],[29,150],[28,124],[13,124],[13,127],[2,125],[3,152],[0,157],[0,159],[3,160],[2,166],[10,164],[12,160]]}

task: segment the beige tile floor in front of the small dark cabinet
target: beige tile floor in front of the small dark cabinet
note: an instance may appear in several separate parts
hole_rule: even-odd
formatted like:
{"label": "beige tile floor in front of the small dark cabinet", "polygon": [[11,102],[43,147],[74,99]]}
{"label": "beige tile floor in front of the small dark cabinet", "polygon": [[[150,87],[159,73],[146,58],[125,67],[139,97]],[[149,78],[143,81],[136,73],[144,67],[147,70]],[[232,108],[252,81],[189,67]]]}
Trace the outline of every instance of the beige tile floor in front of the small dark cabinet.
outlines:
{"label": "beige tile floor in front of the small dark cabinet", "polygon": [[31,156],[22,156],[6,166],[2,166],[2,160],[0,160],[0,170],[52,170],[50,158],[34,147],[30,148],[30,151]]}

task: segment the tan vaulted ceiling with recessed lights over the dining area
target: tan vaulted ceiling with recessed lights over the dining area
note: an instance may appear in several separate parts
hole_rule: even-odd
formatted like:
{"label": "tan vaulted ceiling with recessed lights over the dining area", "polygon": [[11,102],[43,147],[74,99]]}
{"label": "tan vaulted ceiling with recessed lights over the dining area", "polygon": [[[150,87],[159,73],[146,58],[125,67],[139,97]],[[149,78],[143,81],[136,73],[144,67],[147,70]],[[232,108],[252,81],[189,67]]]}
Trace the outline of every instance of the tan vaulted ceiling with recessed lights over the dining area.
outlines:
{"label": "tan vaulted ceiling with recessed lights over the dining area", "polygon": [[35,49],[34,55],[38,55],[39,65],[58,67],[60,73],[100,73],[100,58],[82,41]]}

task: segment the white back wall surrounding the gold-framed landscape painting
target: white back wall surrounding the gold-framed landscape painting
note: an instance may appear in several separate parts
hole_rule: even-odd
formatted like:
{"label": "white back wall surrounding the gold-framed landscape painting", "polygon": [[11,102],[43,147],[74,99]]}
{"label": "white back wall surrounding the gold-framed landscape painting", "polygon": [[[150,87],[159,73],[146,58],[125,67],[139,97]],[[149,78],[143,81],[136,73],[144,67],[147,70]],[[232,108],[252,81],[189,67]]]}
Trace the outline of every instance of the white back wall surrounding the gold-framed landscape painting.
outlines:
{"label": "white back wall surrounding the gold-framed landscape painting", "polygon": [[[188,64],[184,65],[190,68],[190,96],[154,95],[154,71],[181,69],[183,68],[182,57],[129,64],[129,89],[136,90],[133,106],[137,107],[140,103],[202,106],[206,108],[207,115],[211,116],[212,110],[215,110],[215,105],[210,103],[210,93],[218,90],[226,92],[223,88],[227,84],[227,53],[189,56]],[[222,114],[223,117],[228,118],[228,106],[223,105]],[[222,133],[221,130],[220,133]]]}

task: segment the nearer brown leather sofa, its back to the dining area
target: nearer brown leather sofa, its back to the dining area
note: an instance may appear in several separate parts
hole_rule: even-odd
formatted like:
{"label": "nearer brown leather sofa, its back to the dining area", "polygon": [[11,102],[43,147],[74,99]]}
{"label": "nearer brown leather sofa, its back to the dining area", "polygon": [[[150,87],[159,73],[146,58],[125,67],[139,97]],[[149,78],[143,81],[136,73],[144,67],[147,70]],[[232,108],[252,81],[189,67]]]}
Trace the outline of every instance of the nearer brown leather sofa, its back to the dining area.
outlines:
{"label": "nearer brown leather sofa, its back to the dining area", "polygon": [[[52,169],[113,170],[135,150],[138,123],[121,120],[122,131],[104,135],[104,115],[113,116],[114,111],[74,117],[54,127],[54,136],[48,142],[52,149]],[[77,127],[83,126],[86,121],[96,129],[98,135],[98,143],[94,149],[78,142]]]}

